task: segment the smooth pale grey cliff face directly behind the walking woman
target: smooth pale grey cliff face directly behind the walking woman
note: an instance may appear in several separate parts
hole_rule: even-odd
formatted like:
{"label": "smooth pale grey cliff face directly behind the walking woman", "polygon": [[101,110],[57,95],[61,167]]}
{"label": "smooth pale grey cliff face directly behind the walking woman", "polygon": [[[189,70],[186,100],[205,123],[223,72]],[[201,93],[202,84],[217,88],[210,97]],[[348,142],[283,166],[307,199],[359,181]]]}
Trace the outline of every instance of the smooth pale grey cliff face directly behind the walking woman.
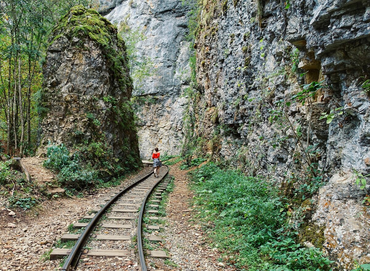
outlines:
{"label": "smooth pale grey cliff face directly behind the walking woman", "polygon": [[133,93],[142,100],[154,100],[138,105],[141,158],[149,159],[156,146],[161,153],[179,154],[187,104],[181,94],[188,88],[190,70],[185,39],[189,7],[178,0],[137,0],[101,1],[100,9],[118,29],[124,25],[142,32],[146,38],[137,43],[138,55],[154,62],[154,75]]}

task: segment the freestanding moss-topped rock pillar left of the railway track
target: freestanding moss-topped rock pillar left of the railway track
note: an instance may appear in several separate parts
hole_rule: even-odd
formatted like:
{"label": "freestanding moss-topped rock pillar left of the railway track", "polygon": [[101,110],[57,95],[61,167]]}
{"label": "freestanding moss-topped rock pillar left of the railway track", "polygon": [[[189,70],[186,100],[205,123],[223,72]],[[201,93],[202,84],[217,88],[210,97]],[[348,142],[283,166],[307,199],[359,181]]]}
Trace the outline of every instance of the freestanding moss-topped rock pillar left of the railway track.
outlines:
{"label": "freestanding moss-topped rock pillar left of the railway track", "polygon": [[73,7],[53,31],[43,74],[41,146],[95,141],[139,163],[125,44],[108,20]]}

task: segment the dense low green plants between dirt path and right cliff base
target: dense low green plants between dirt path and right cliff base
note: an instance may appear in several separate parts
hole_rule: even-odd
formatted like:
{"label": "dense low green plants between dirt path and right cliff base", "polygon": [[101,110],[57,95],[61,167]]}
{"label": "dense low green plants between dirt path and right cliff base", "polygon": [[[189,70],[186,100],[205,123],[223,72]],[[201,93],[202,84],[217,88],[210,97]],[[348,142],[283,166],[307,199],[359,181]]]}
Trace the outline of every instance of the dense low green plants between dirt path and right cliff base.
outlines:
{"label": "dense low green plants between dirt path and right cliff base", "polygon": [[213,244],[238,270],[330,270],[319,248],[300,244],[274,185],[213,163],[192,173],[194,204],[212,221]]}

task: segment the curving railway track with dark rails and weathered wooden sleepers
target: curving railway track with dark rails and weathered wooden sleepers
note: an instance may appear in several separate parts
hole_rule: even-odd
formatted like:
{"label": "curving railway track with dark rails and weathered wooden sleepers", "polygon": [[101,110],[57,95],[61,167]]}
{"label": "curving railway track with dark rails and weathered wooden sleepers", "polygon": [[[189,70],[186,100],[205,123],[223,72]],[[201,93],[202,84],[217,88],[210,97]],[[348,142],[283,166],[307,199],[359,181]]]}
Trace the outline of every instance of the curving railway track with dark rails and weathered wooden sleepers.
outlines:
{"label": "curving railway track with dark rails and weathered wooden sleepers", "polygon": [[[167,258],[167,255],[165,251],[144,250],[144,237],[149,242],[161,241],[161,238],[158,235],[145,236],[143,229],[145,228],[146,231],[159,230],[158,225],[150,224],[156,224],[155,221],[159,219],[155,214],[158,213],[156,209],[162,199],[161,193],[165,191],[172,179],[168,175],[168,166],[165,165],[165,167],[159,178],[155,178],[151,172],[118,193],[112,194],[110,198],[105,198],[104,202],[98,204],[102,206],[101,208],[91,210],[95,214],[83,217],[84,222],[90,222],[73,225],[74,228],[79,228],[81,233],[64,234],[61,237],[62,242],[75,240],[74,247],[72,249],[55,248],[50,254],[50,260],[67,257],[60,270],[70,271],[77,268],[81,257],[132,257],[135,251],[129,248],[130,245],[131,248],[133,247],[132,241],[136,239],[139,270],[153,270],[147,267],[147,257]],[[153,194],[154,191],[155,194]],[[148,202],[149,197],[151,201]],[[148,225],[143,224],[144,216]],[[125,242],[126,249],[122,249],[124,245],[117,247],[117,244],[115,244],[115,248],[119,249],[107,249],[105,244],[104,249],[91,248],[96,244],[99,246],[101,240]],[[111,246],[114,247],[112,242]]]}

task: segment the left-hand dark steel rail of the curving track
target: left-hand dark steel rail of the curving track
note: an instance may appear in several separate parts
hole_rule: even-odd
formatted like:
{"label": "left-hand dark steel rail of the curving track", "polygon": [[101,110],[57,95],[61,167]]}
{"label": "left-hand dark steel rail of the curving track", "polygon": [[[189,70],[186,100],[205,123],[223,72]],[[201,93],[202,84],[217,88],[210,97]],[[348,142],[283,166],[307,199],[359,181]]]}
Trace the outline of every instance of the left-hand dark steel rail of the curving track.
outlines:
{"label": "left-hand dark steel rail of the curving track", "polygon": [[134,187],[135,185],[137,185],[138,183],[141,183],[142,181],[144,181],[146,178],[148,178],[151,174],[153,174],[153,172],[145,175],[144,177],[142,177],[140,180],[128,185],[127,187],[123,188],[120,192],[118,192],[117,194],[115,194],[99,211],[97,214],[95,214],[95,216],[93,218],[91,218],[91,221],[90,223],[86,226],[85,230],[83,231],[83,233],[81,234],[80,238],[78,238],[76,244],[74,245],[74,247],[72,248],[72,251],[71,253],[68,255],[68,258],[67,260],[65,260],[64,262],[64,265],[63,267],[60,269],[61,271],[69,271],[71,265],[78,261],[78,258],[80,258],[81,256],[81,248],[82,246],[85,244],[85,242],[87,241],[87,238],[89,237],[89,234],[90,234],[90,231],[93,230],[95,228],[95,224],[100,220],[100,217],[102,216],[102,214],[105,213],[105,210],[107,210],[108,207],[110,207],[110,205],[112,203],[114,203],[122,194],[124,194],[127,190],[131,189],[132,187]]}

